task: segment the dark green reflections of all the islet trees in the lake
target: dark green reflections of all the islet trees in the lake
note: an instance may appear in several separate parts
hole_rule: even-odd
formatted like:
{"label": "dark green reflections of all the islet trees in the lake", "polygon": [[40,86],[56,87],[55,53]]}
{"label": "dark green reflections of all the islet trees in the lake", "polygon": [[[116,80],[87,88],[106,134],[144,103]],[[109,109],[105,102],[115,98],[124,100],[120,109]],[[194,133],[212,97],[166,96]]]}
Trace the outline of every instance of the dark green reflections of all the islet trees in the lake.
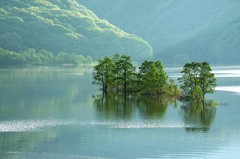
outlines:
{"label": "dark green reflections of all the islet trees in the lake", "polygon": [[94,96],[94,105],[98,118],[104,120],[128,120],[131,118],[164,120],[169,107],[177,108],[184,120],[184,128],[188,132],[208,132],[216,115],[216,102],[212,100],[177,102],[174,98],[131,97],[108,95]]}

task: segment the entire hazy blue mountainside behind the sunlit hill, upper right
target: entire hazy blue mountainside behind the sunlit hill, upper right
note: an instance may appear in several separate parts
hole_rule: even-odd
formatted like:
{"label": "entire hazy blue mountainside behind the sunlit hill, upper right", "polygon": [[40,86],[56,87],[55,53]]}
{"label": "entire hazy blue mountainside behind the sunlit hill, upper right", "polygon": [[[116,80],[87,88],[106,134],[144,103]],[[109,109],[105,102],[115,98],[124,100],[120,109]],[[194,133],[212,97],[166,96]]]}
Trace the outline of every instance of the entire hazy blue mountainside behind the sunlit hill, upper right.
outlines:
{"label": "entire hazy blue mountainside behind the sunlit hill, upper right", "polygon": [[[165,64],[239,64],[239,0],[77,0],[147,40]],[[227,57],[227,58],[226,58]]]}

